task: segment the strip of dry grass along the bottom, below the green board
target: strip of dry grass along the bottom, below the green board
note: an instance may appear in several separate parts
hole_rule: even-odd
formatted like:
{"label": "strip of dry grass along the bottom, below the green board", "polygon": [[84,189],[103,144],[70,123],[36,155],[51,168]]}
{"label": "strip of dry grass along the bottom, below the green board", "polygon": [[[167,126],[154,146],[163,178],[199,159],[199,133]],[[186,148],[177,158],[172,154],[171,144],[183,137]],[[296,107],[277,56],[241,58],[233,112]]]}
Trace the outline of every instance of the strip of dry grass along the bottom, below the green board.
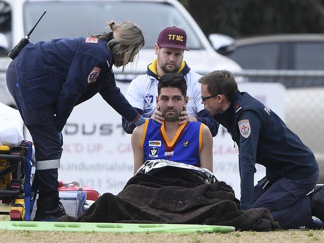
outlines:
{"label": "strip of dry grass along the bottom, below the green board", "polygon": [[324,231],[275,231],[213,233],[98,233],[98,232],[35,232],[0,230],[1,242],[14,243],[324,243]]}

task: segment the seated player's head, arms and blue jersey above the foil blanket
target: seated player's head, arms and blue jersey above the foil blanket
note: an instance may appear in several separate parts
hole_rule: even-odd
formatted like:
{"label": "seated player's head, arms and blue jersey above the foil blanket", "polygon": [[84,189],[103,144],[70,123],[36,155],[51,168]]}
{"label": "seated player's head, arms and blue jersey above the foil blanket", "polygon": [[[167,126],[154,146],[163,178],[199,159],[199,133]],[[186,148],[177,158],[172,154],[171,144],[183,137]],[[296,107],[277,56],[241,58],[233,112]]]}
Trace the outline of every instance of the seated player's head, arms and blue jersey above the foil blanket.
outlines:
{"label": "seated player's head, arms and blue jersey above the foil blanket", "polygon": [[164,118],[162,124],[147,119],[132,134],[134,171],[144,161],[167,159],[213,170],[213,138],[200,122],[183,122],[178,118],[188,103],[187,85],[182,74],[167,74],[158,85],[157,104]]}

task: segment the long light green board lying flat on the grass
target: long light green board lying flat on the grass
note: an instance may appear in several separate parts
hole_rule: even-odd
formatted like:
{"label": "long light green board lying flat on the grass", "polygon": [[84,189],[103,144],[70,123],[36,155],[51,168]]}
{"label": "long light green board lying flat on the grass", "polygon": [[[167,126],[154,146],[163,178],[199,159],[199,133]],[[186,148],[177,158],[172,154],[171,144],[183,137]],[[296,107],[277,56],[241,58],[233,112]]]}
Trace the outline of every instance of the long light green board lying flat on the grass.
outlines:
{"label": "long light green board lying flat on the grass", "polygon": [[155,233],[228,233],[235,231],[231,226],[175,225],[175,224],[120,224],[80,222],[30,222],[0,221],[0,230],[10,231],[68,231],[68,232],[155,232]]}

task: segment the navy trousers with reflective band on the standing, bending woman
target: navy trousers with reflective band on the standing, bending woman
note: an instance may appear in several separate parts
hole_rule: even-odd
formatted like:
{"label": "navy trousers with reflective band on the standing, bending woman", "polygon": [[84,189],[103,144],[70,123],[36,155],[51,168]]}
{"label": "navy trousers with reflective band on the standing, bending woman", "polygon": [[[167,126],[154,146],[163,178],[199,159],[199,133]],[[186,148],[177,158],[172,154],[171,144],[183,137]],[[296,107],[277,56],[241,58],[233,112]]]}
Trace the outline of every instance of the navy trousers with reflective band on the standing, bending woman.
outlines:
{"label": "navy trousers with reflective band on the standing, bending woman", "polygon": [[[17,85],[15,60],[9,64],[6,82],[35,147],[36,172],[34,180],[39,188],[39,196],[41,197],[41,194],[57,194],[58,166],[51,166],[51,161],[59,161],[61,158],[63,139],[55,126],[53,107],[48,105],[29,111],[25,109]],[[42,161],[49,161],[46,162],[48,166],[43,166]],[[41,169],[37,168],[37,163]]]}

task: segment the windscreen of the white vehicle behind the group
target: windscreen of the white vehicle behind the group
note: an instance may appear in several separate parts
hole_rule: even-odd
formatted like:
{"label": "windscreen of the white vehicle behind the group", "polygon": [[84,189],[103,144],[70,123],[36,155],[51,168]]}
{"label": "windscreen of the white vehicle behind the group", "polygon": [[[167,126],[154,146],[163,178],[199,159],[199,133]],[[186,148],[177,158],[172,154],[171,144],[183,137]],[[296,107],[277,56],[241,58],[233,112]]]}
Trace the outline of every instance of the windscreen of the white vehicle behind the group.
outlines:
{"label": "windscreen of the white vehicle behind the group", "polygon": [[186,31],[190,49],[203,48],[187,20],[168,3],[93,0],[26,2],[23,10],[25,32],[32,28],[44,10],[47,12],[32,33],[31,42],[100,34],[107,21],[130,20],[141,27],[146,42],[144,48],[153,48],[160,31],[173,25]]}

